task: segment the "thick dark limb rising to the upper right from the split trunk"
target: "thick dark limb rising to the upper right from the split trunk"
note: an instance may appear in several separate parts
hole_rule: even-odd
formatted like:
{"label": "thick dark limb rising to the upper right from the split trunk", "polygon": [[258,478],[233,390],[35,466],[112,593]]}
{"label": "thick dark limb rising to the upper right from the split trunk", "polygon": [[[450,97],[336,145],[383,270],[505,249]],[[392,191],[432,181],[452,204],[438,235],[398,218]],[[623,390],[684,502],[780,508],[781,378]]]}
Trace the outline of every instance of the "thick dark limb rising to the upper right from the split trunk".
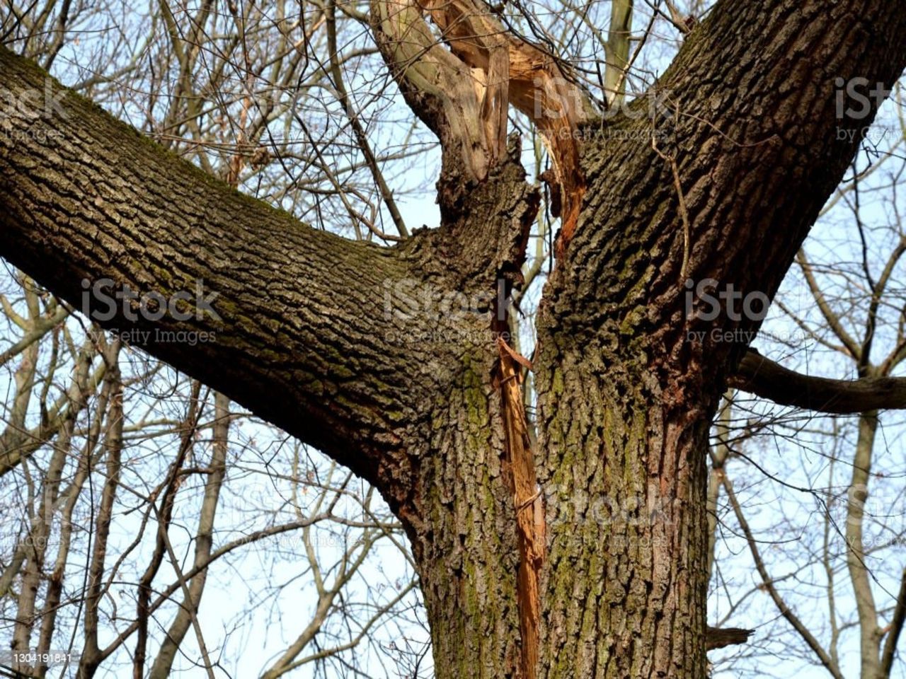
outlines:
{"label": "thick dark limb rising to the upper right from the split trunk", "polygon": [[582,128],[588,190],[541,322],[564,343],[635,347],[678,394],[716,407],[746,343],[711,330],[751,337],[759,321],[708,316],[698,297],[689,309],[684,282],[774,295],[861,142],[837,130],[870,125],[880,104],[838,111],[839,82],[891,87],[904,32],[884,0],[720,0],[649,100]]}

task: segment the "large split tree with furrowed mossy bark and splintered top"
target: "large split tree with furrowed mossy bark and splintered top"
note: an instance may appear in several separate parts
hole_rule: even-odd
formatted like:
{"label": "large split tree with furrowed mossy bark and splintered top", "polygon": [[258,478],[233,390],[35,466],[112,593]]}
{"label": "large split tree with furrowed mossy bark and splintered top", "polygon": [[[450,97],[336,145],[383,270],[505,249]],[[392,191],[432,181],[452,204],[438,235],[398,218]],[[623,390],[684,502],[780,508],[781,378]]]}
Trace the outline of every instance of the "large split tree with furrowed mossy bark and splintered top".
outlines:
{"label": "large split tree with furrowed mossy bark and splintered top", "polygon": [[[410,538],[440,677],[700,677],[708,427],[746,354],[712,331],[760,320],[687,312],[684,282],[773,296],[858,146],[836,129],[882,100],[841,115],[839,83],[889,88],[904,23],[878,0],[724,0],[612,115],[485,5],[374,0],[443,151],[439,228],[389,248],[236,193],[4,51],[6,129],[30,132],[0,138],[0,254],[76,306],[111,280],[130,299],[102,324],[373,483]],[[562,215],[536,440],[498,301],[539,204],[509,103],[546,135]],[[191,332],[216,340],[168,341]],[[594,520],[604,505],[636,520]]]}

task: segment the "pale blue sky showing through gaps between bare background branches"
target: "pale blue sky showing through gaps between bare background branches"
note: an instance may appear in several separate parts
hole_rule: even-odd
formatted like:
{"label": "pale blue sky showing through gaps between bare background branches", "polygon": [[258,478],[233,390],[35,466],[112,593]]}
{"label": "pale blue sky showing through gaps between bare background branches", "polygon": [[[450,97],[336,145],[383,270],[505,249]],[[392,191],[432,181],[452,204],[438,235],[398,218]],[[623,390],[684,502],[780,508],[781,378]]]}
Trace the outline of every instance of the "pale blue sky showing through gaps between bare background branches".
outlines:
{"label": "pale blue sky showing through gaps between bare background branches", "polygon": [[[69,45],[67,50],[70,56],[77,55],[84,45]],[[668,55],[664,57],[664,63]],[[653,60],[657,63],[657,60]],[[365,78],[363,75],[362,78]],[[882,111],[882,116],[872,132],[872,142],[882,145],[890,140],[894,134],[900,134],[899,120],[896,111],[888,106]],[[525,145],[528,146],[527,144]],[[531,149],[525,148],[526,162],[529,162]],[[863,159],[865,154],[863,154]],[[428,186],[433,183],[432,172],[437,169],[437,153],[429,156],[420,164],[410,167],[409,176],[401,175],[400,187]],[[778,168],[778,172],[784,168]],[[863,206],[863,221],[866,222],[870,233],[876,235],[872,240],[872,250],[868,257],[872,268],[877,272],[880,263],[878,258],[883,253],[881,244],[887,244],[884,239],[889,238],[884,231],[884,226],[892,221],[895,216],[895,200],[890,192],[883,195],[883,187],[890,177],[883,173],[873,175],[865,180],[864,194],[866,205]],[[876,194],[876,195],[875,195]],[[871,203],[868,201],[871,200]],[[417,225],[437,225],[439,221],[438,208],[434,204],[430,191],[421,196],[404,199],[400,208],[405,221],[410,227]],[[872,230],[873,229],[873,230]],[[860,291],[857,273],[863,253],[861,242],[854,232],[853,219],[844,205],[838,205],[834,210],[824,215],[822,221],[814,229],[814,234],[806,244],[806,251],[817,262],[827,263],[829,266],[835,262],[842,262],[848,266],[847,273],[841,275],[830,274],[828,282],[836,286],[838,299],[845,303],[848,294]],[[855,272],[855,273],[853,273]],[[898,273],[902,273],[898,269]],[[906,278],[900,279],[901,281]],[[532,289],[526,301],[530,308],[540,294],[542,280],[539,280]],[[864,292],[864,291],[862,291]],[[902,289],[892,290],[891,304],[902,304]],[[784,302],[786,309],[802,316],[810,322],[818,323],[814,310],[814,300],[805,292],[801,276],[794,273],[787,278],[779,299]],[[858,313],[858,311],[857,311]],[[889,348],[891,343],[891,328],[879,331],[879,349]],[[5,347],[0,337],[0,349]],[[885,344],[886,343],[886,344]],[[820,342],[809,336],[793,320],[789,314],[781,311],[776,306],[772,308],[766,321],[762,334],[755,341],[755,346],[768,356],[775,359],[784,359],[785,364],[795,365],[799,369],[807,369],[813,374],[825,374],[838,378],[852,377],[853,366],[846,360],[840,359],[833,351],[822,349]],[[531,337],[527,333],[524,338],[524,353],[531,349]],[[901,374],[901,373],[900,373]],[[172,375],[162,378],[164,383],[172,383],[176,378]],[[11,385],[6,373],[0,375],[0,393],[9,393]],[[141,396],[136,393],[136,399]],[[149,401],[150,404],[150,401]],[[764,415],[768,411],[765,406],[753,405],[755,411]],[[769,412],[776,414],[776,409]],[[741,418],[747,417],[743,413]],[[761,465],[766,473],[773,474],[776,478],[768,479],[765,473],[760,473],[752,466],[746,466],[741,461],[731,464],[731,473],[738,473],[734,481],[740,496],[746,498],[747,518],[757,533],[764,531],[764,535],[777,535],[780,531],[782,541],[779,545],[764,545],[766,559],[775,578],[782,579],[783,587],[791,593],[798,595],[796,598],[796,612],[809,620],[815,628],[822,627],[824,620],[824,606],[826,602],[821,598],[823,592],[822,567],[820,562],[803,569],[799,560],[803,554],[817,553],[814,543],[815,525],[824,524],[824,516],[828,512],[827,501],[831,497],[839,497],[845,490],[846,470],[838,464],[834,468],[837,455],[847,454],[845,446],[852,441],[852,418],[818,418],[813,416],[793,417],[785,420],[780,426],[781,435],[762,437],[746,444],[744,452],[750,454],[757,464]],[[828,449],[826,439],[820,435],[839,427],[843,432],[841,450]],[[903,427],[901,417],[892,414],[882,416],[881,435],[877,444],[878,468],[887,473],[886,481],[879,480],[878,492],[872,496],[870,511],[879,517],[877,525],[872,530],[879,539],[892,534],[901,534],[906,530],[904,512],[902,512],[902,492],[900,487],[903,482]],[[786,437],[785,437],[786,436]],[[847,438],[846,436],[849,436]],[[794,440],[795,439],[795,440]],[[148,451],[156,450],[151,442],[142,442],[149,445]],[[229,526],[247,526],[248,513],[254,509],[255,521],[262,520],[266,512],[271,512],[267,517],[269,521],[278,519],[286,520],[294,513],[293,505],[296,504],[302,512],[307,511],[313,499],[308,497],[293,498],[288,484],[281,483],[269,477],[272,468],[268,460],[272,455],[286,454],[292,449],[293,442],[287,441],[270,427],[262,426],[256,422],[246,422],[242,431],[236,433],[236,444],[231,449],[231,468],[227,482],[227,490],[218,515],[217,525],[222,527],[218,532],[217,540],[229,540],[235,533],[229,531]],[[750,450],[749,445],[755,450]],[[140,449],[141,450],[141,449]],[[311,468],[318,473],[327,473],[329,462],[315,451],[306,451],[310,455]],[[336,472],[335,472],[336,473]],[[779,481],[778,481],[779,480]],[[135,479],[140,483],[140,479]],[[827,482],[828,493],[820,495],[814,489]],[[366,492],[361,487],[361,482],[353,481],[352,486],[358,486],[359,498],[350,495],[344,500],[343,512],[348,516],[361,517],[361,503]],[[800,490],[807,489],[807,490]],[[313,492],[313,496],[314,496]],[[386,508],[381,508],[380,498],[372,498],[371,507],[374,511],[383,513]],[[186,521],[191,525],[191,506],[185,508]],[[839,517],[840,505],[830,503],[830,513],[835,518]],[[265,513],[261,513],[265,512]],[[726,511],[724,514],[726,515]],[[113,542],[114,547],[120,547],[130,542],[137,531],[138,516],[136,514],[124,515],[118,518],[115,524]],[[778,658],[783,649],[788,646],[789,636],[770,638],[765,636],[765,631],[772,629],[771,622],[776,619],[776,607],[769,601],[763,591],[757,588],[759,580],[751,566],[751,559],[745,549],[743,540],[734,533],[733,521],[727,521],[722,528],[725,541],[720,543],[718,554],[721,558],[721,577],[724,582],[732,584],[735,589],[728,594],[728,588],[714,588],[709,600],[709,621],[712,623],[733,609],[735,615],[728,618],[728,625],[748,626],[756,629],[754,639],[759,655],[754,660],[747,661],[747,674],[741,674],[738,665],[717,667],[716,677],[729,678],[735,676],[793,676],[801,679],[812,677],[825,677],[826,672],[814,667],[810,656],[805,655],[800,662],[789,659],[784,655],[781,661]],[[834,530],[829,540],[834,540]],[[820,537],[820,536],[819,536]],[[839,538],[839,536],[837,536]],[[188,536],[184,536],[188,540]],[[180,543],[177,540],[176,546]],[[310,544],[313,550],[323,556],[325,561],[339,557],[346,549],[348,542],[334,527],[333,531],[317,529],[314,531]],[[820,547],[820,545],[819,545]],[[286,643],[291,641],[299,630],[299,626],[307,622],[313,611],[313,586],[310,574],[300,573],[299,564],[303,562],[305,545],[298,536],[288,539],[267,540],[244,550],[235,559],[229,559],[211,569],[207,583],[207,593],[200,612],[203,629],[211,630],[211,639],[218,649],[222,649],[225,658],[230,662],[232,675],[237,677],[255,676],[273,659],[276,654],[284,649]],[[891,573],[896,573],[906,563],[902,544],[887,550],[887,563],[879,564],[879,578],[874,583],[874,588],[879,598],[884,591],[896,591],[897,583]],[[135,554],[135,559],[142,556],[140,550]],[[845,573],[836,573],[840,584],[835,589],[836,606],[843,617],[852,618],[853,599],[845,584]],[[359,576],[353,580],[349,589],[349,600],[363,606],[369,603],[386,601],[400,591],[400,581],[405,582],[411,576],[411,569],[401,558],[400,551],[390,540],[382,540],[373,550],[371,558],[362,566]],[[161,581],[169,581],[162,577]],[[280,596],[275,601],[263,601],[260,593],[266,588],[279,588]],[[743,598],[740,604],[739,591],[750,588],[752,591]],[[113,598],[121,597],[124,606],[129,605],[130,593],[124,588],[122,592],[114,590]],[[410,596],[415,600],[416,595]],[[251,609],[251,612],[249,612]],[[422,616],[423,619],[423,616]],[[0,636],[3,628],[0,626]],[[410,645],[419,648],[427,643],[427,633],[420,626],[417,613],[404,617],[387,628],[382,628],[375,643],[361,651],[360,660],[366,665],[371,674],[377,676],[390,676],[392,659],[402,654],[396,653],[390,645]],[[206,639],[207,641],[207,639]],[[194,655],[194,639],[191,634],[185,642],[185,651],[189,657]],[[855,629],[850,627],[843,631],[842,664],[844,674],[858,675],[858,645]],[[381,652],[381,648],[384,652]],[[359,652],[357,652],[359,653]],[[734,653],[729,652],[730,655]],[[719,655],[715,654],[717,658]],[[127,658],[123,656],[123,661]],[[193,666],[188,658],[178,660],[178,665],[188,677],[201,676],[200,670]],[[425,661],[423,668],[430,668],[430,660]],[[899,673],[899,674],[898,674]],[[894,676],[903,676],[904,672],[900,663]],[[109,676],[116,676],[116,671],[108,672]],[[309,669],[303,669],[298,676],[313,676]],[[342,669],[334,669],[329,676],[345,676]]]}

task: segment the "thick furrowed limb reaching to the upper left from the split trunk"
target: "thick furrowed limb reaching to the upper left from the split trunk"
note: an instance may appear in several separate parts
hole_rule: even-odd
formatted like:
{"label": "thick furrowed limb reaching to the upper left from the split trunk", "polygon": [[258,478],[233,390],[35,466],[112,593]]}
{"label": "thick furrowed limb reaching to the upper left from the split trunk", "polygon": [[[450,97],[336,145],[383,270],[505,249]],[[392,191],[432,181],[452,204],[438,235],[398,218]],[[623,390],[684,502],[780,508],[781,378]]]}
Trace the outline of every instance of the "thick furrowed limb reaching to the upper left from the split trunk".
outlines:
{"label": "thick furrowed limb reaching to the upper left from the split trunk", "polygon": [[[500,206],[494,186],[476,191],[471,209],[488,214],[466,254],[448,246],[454,226],[381,249],[240,195],[4,48],[0,88],[0,254],[78,309],[109,311],[95,283],[153,295],[149,313],[116,301],[101,325],[372,481],[406,485],[402,451],[424,439],[413,427],[461,350],[432,338],[487,329],[488,303],[450,314],[423,287],[435,301],[493,292],[518,267],[531,192]],[[189,299],[159,309],[175,296]]]}

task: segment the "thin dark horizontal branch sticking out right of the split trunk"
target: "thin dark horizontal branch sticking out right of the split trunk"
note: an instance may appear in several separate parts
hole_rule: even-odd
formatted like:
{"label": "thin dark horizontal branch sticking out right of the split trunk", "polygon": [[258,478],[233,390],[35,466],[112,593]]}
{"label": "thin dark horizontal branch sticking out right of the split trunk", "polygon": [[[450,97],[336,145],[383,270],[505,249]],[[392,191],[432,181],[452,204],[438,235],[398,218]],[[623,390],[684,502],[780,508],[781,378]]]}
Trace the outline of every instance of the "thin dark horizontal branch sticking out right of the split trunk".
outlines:
{"label": "thin dark horizontal branch sticking out right of the split trunk", "polygon": [[747,351],[729,385],[781,406],[822,413],[906,408],[906,378],[815,378],[784,368],[754,349]]}

